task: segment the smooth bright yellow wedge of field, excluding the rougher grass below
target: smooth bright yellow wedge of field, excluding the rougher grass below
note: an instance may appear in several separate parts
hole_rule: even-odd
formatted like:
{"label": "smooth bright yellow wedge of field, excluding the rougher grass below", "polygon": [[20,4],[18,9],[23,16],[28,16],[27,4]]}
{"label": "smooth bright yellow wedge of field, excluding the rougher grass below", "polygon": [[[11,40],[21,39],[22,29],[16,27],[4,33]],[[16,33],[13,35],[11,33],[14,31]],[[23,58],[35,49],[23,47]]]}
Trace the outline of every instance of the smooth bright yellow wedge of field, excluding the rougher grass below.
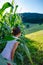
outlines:
{"label": "smooth bright yellow wedge of field, excluding the rougher grass below", "polygon": [[25,35],[27,38],[43,43],[43,30]]}

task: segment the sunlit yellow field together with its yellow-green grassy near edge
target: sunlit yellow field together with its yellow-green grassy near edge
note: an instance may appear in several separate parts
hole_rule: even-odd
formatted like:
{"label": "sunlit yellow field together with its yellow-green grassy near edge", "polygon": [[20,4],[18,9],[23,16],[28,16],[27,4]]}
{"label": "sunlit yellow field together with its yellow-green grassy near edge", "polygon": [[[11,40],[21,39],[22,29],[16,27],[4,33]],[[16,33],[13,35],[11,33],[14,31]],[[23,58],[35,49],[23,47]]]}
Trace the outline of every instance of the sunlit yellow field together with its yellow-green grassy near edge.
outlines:
{"label": "sunlit yellow field together with its yellow-green grassy near edge", "polygon": [[43,51],[43,30],[27,34],[25,37],[35,41],[36,43],[33,42],[31,44],[38,50]]}

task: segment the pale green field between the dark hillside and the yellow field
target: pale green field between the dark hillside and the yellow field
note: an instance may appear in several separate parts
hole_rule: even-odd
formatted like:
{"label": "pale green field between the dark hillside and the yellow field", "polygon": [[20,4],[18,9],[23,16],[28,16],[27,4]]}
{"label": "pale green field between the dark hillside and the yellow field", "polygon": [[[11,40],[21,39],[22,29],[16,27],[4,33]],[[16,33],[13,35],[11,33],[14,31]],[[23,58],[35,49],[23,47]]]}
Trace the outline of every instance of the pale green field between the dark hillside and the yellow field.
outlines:
{"label": "pale green field between the dark hillside and the yellow field", "polygon": [[[25,24],[25,26],[26,26],[26,24]],[[39,24],[30,24],[30,27],[25,28],[25,30],[26,30],[25,31],[26,34],[34,33],[34,32],[43,30],[43,24],[41,24],[41,25],[39,25]]]}

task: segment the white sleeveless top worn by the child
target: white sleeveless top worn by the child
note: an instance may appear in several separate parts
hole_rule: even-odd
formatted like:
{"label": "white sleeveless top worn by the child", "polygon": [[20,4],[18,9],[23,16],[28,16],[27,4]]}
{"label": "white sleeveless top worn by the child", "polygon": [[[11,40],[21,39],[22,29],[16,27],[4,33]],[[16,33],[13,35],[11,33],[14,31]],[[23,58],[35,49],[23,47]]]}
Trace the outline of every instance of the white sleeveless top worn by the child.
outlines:
{"label": "white sleeveless top worn by the child", "polygon": [[8,41],[6,44],[6,47],[4,48],[4,50],[2,51],[1,55],[8,59],[11,60],[11,51],[13,49],[14,44],[16,43],[16,40],[12,40],[12,41]]}

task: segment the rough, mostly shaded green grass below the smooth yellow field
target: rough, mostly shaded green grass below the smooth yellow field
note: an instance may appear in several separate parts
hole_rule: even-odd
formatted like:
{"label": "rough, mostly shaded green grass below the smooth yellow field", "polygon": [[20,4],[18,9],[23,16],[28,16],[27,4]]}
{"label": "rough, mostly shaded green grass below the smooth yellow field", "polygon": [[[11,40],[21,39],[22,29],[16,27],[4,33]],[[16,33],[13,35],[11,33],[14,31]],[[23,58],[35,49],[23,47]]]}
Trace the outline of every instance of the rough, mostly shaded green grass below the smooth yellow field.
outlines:
{"label": "rough, mostly shaded green grass below the smooth yellow field", "polygon": [[43,65],[43,51],[39,50],[39,49],[43,48],[41,43],[32,41],[27,38],[25,38],[25,42],[30,50],[33,62],[35,62],[35,64],[37,64],[37,65]]}

